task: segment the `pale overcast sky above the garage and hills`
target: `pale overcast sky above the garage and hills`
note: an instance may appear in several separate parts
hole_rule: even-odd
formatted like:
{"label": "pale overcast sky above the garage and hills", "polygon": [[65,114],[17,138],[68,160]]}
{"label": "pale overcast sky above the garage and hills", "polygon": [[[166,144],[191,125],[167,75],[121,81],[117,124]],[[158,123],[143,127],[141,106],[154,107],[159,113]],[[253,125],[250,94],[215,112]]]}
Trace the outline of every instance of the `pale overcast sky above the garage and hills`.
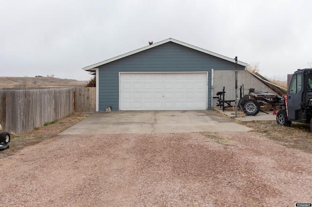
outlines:
{"label": "pale overcast sky above the garage and hills", "polygon": [[0,0],[0,76],[81,68],[174,38],[286,80],[312,67],[311,0]]}

